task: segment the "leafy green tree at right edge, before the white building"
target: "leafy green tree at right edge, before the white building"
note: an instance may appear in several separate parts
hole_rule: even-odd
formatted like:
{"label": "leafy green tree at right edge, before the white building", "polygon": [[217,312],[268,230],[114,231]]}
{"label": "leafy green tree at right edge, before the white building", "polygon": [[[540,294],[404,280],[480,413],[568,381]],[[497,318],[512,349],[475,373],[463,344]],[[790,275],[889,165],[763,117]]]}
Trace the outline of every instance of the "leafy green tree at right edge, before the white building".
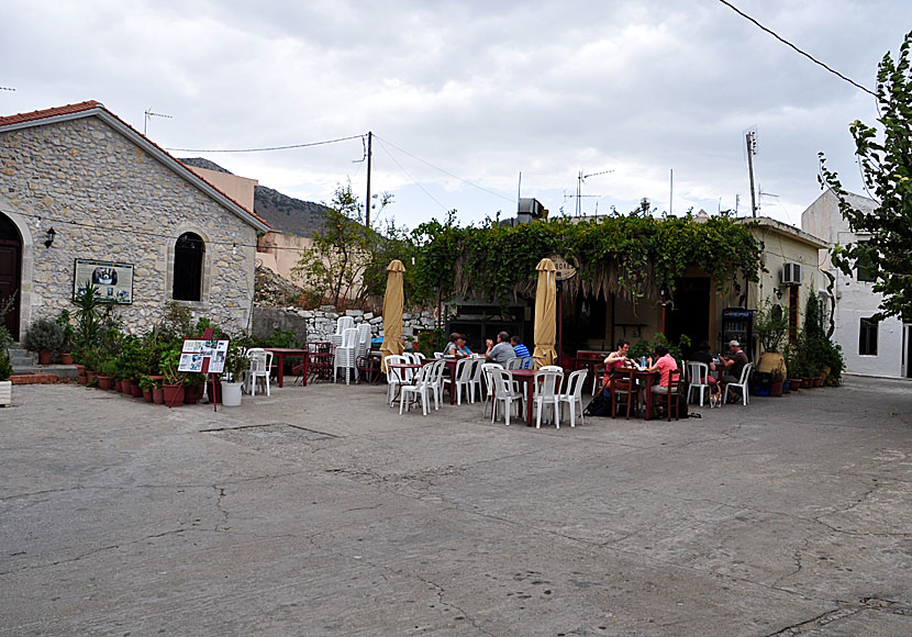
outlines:
{"label": "leafy green tree at right edge, before the white building", "polygon": [[877,74],[877,104],[881,131],[856,120],[849,125],[861,166],[865,188],[877,205],[864,213],[848,202],[838,176],[820,154],[822,186],[833,190],[839,211],[853,232],[869,239],[833,248],[833,262],[846,275],[864,267],[874,278],[874,291],[883,294],[878,317],[912,321],[912,32],[899,59],[883,56]]}

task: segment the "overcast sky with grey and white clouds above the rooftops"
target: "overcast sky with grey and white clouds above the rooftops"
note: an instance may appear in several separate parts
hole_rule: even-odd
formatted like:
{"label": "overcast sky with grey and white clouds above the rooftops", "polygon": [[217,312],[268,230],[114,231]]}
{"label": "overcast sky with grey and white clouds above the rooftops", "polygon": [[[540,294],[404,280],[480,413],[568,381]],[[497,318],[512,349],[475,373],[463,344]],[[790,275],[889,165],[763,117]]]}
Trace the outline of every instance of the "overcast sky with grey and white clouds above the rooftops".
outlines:
{"label": "overcast sky with grey and white clouds above the rooftops", "polygon": [[[874,90],[909,0],[732,0]],[[366,188],[382,217],[464,224],[535,197],[574,214],[688,208],[800,224],[818,153],[860,191],[848,123],[874,98],[719,0],[0,0],[0,114],[98,100],[177,157],[310,201]],[[170,115],[152,116],[145,112]],[[185,152],[177,149],[199,149]],[[202,152],[207,150],[207,152]],[[674,190],[671,175],[674,171]],[[520,175],[522,177],[520,178]]]}

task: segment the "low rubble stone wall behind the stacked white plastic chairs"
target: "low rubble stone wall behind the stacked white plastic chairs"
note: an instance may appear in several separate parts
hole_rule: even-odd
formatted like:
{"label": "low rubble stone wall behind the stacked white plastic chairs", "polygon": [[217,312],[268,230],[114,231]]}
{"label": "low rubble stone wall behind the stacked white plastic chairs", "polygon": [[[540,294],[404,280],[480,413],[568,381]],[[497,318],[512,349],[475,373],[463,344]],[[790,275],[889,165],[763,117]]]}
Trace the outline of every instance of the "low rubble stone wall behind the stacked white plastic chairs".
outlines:
{"label": "low rubble stone wall behind the stacked white plastic chairs", "polygon": [[[300,310],[297,308],[273,309],[273,308],[254,308],[254,324],[258,325],[260,322],[266,325],[293,325],[292,321],[283,321],[280,313],[289,316],[294,316],[299,321],[303,321],[307,325],[307,338],[310,342],[326,342],[330,336],[335,334],[336,320],[342,315],[336,312],[332,305],[324,305],[320,310]],[[351,316],[355,322],[355,327],[367,322],[370,324],[370,337],[376,338],[383,336],[383,317],[375,315],[372,312],[364,312],[362,310],[346,310],[345,315]],[[436,327],[437,322],[433,312],[409,313],[402,315],[402,337],[407,340],[418,336],[419,332],[425,332]],[[275,328],[275,327],[274,327]],[[288,329],[289,327],[278,327],[280,329]],[[257,336],[268,336],[267,334],[257,334]]]}

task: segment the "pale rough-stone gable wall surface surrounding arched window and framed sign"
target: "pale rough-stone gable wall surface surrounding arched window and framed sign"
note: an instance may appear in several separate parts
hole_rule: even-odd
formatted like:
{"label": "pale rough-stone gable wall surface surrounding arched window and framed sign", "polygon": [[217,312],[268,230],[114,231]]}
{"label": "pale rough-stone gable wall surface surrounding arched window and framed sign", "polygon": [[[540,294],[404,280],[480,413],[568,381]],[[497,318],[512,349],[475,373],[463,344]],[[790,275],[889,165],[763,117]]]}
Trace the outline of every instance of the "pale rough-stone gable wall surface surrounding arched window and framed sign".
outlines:
{"label": "pale rough-stone gable wall surface surrounding arched window and framed sign", "polygon": [[[185,232],[205,244],[203,291],[200,302],[180,303],[233,332],[248,324],[255,228],[99,118],[0,134],[0,213],[31,233],[23,329],[75,310],[75,259],[85,258],[134,265],[134,302],[118,314],[127,331],[147,331],[171,299],[174,245]],[[45,248],[52,226],[56,238]]]}

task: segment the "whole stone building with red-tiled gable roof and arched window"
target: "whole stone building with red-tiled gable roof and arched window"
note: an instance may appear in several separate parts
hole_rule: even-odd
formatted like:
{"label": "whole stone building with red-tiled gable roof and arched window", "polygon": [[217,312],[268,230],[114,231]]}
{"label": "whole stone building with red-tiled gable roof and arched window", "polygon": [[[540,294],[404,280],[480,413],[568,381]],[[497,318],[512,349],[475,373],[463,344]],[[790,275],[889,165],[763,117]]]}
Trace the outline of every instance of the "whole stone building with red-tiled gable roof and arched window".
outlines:
{"label": "whole stone building with red-tiled gable roof and arched window", "polygon": [[0,302],[15,298],[14,337],[73,311],[84,279],[130,332],[169,301],[245,329],[268,230],[99,102],[0,118]]}

